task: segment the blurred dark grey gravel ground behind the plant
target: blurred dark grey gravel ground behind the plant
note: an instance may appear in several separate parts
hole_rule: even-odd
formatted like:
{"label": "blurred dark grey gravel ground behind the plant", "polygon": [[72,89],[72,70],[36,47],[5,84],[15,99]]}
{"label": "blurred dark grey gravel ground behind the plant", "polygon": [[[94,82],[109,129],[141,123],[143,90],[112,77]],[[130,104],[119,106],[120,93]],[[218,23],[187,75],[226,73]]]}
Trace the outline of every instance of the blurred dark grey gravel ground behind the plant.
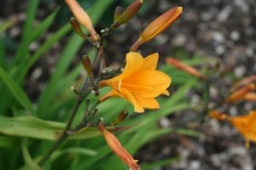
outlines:
{"label": "blurred dark grey gravel ground behind the plant", "polygon": [[[88,11],[95,3],[94,0],[79,0],[78,2]],[[99,32],[111,26],[113,11],[117,5],[125,8],[131,2],[131,0],[115,0],[110,3],[107,9],[101,11],[102,16],[96,22],[96,31]],[[6,49],[7,60],[11,61],[20,45],[22,29],[26,21],[26,8],[29,8],[30,3],[20,0],[0,0],[0,4],[0,26],[2,25],[0,36]],[[212,79],[216,77],[210,73],[218,65],[218,71],[224,73],[224,77],[216,79],[218,88],[209,89],[213,99],[218,99],[216,96],[218,96],[219,88],[224,92],[230,91],[234,82],[256,73],[256,3],[254,0],[144,0],[143,8],[139,13],[127,25],[121,26],[108,37],[107,48],[105,48],[107,64],[121,65],[131,44],[137,40],[143,29],[160,14],[175,6],[183,7],[183,15],[160,36],[139,48],[143,56],[158,52],[161,64],[167,56],[177,59],[207,60],[207,64],[202,63],[197,65],[197,68],[206,71],[207,77],[212,77]],[[44,36],[29,45],[31,54],[35,53],[55,31],[65,26],[72,16],[64,1],[40,1],[33,22],[34,26],[38,26],[57,7],[60,9]],[[4,28],[3,23],[7,20],[13,23]],[[69,40],[71,32],[73,31],[67,32],[67,35],[56,41],[29,69],[24,89],[32,102],[37,102],[39,94],[44,90],[49,77],[55,71],[55,65],[61,57],[63,46]],[[75,65],[78,65],[79,56],[87,54],[89,50],[89,43],[83,42],[67,70],[72,70]],[[175,80],[175,77],[172,77],[172,82]],[[175,83],[173,87],[171,86],[171,95],[176,92],[177,88],[179,87]],[[189,90],[184,96],[190,105],[202,104],[201,88]],[[242,114],[247,114],[248,111],[255,109],[255,102],[241,102],[227,106],[224,111],[231,116],[237,116],[241,115],[241,111]],[[135,158],[140,160],[140,164],[172,158],[172,161],[169,160],[163,166],[152,167],[155,170],[256,169],[256,163],[253,161],[256,155],[255,144],[251,144],[250,149],[247,149],[241,134],[230,126],[230,123],[218,122],[207,117],[203,122],[195,121],[197,112],[196,110],[176,111],[171,116],[161,117],[158,125],[175,128],[196,122],[191,126],[193,130],[202,135],[189,137],[178,133],[165,134],[144,144],[137,150]],[[57,121],[57,117],[54,120]]]}

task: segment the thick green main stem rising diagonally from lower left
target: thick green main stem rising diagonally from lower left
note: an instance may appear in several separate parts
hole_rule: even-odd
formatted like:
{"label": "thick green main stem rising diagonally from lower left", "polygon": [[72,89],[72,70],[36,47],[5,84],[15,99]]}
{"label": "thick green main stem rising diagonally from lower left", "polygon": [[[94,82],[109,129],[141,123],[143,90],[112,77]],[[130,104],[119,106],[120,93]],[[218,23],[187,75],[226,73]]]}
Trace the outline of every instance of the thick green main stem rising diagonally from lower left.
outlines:
{"label": "thick green main stem rising diagonally from lower left", "polygon": [[38,162],[38,166],[42,167],[44,165],[45,161],[47,161],[49,159],[49,156],[51,156],[52,153],[61,145],[61,143],[65,139],[67,139],[67,136],[68,136],[67,131],[70,130],[70,127],[72,126],[73,118],[76,115],[77,111],[79,110],[79,105],[82,103],[83,100],[84,100],[84,97],[79,96],[76,104],[73,107],[72,114],[68,118],[67,125],[66,125],[64,131],[61,133],[60,138],[57,139],[55,141],[55,144],[44,154],[44,156]]}

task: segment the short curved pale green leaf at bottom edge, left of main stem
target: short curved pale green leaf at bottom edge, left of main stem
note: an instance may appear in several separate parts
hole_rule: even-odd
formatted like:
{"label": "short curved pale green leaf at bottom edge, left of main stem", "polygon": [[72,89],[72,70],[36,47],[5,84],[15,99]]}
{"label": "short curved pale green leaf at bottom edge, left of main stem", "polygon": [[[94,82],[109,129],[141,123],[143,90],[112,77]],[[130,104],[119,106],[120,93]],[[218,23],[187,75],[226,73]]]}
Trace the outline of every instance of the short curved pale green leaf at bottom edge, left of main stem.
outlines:
{"label": "short curved pale green leaf at bottom edge, left of main stem", "polygon": [[22,140],[21,144],[21,149],[22,149],[22,154],[23,154],[23,159],[26,163],[26,169],[28,170],[42,170],[41,167],[39,167],[31,158],[29,151],[27,150],[26,146],[26,139]]}

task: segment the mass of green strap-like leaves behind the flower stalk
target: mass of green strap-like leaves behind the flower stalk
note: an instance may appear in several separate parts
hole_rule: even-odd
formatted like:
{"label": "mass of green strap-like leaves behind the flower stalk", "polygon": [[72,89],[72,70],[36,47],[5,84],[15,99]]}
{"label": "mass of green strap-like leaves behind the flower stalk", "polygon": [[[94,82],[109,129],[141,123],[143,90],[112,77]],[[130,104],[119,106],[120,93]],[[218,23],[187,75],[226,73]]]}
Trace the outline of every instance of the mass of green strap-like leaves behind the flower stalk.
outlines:
{"label": "mass of green strap-like leaves behind the flower stalk", "polygon": [[[91,20],[97,22],[102,18],[108,6],[113,0],[97,0],[93,2],[88,13]],[[0,37],[0,169],[41,169],[38,167],[38,158],[43,156],[46,150],[57,139],[67,122],[67,116],[72,111],[75,95],[70,86],[76,82],[82,65],[71,68],[73,59],[82,47],[84,40],[72,33],[61,51],[61,57],[55,66],[55,71],[49,77],[48,83],[38,99],[32,101],[26,94],[24,83],[26,76],[35,62],[44,57],[44,54],[55,42],[67,36],[71,26],[61,27],[33,54],[29,51],[32,42],[43,37],[49,26],[55,22],[55,16],[60,10],[56,8],[52,14],[44,19],[37,27],[33,27],[38,0],[30,0],[27,6],[27,19],[22,31],[20,45],[15,49],[16,53],[9,62],[6,56],[4,38]],[[95,12],[97,11],[97,12]],[[4,31],[9,23],[0,27]],[[91,51],[95,54],[95,51]],[[124,54],[125,55],[125,54]],[[191,65],[204,62],[201,59],[189,59]],[[176,111],[193,109],[184,95],[190,88],[195,88],[198,79],[190,77],[181,71],[176,71],[169,65],[164,65],[162,70],[172,77],[172,84],[179,88],[170,97],[160,97],[161,109],[159,111],[147,111],[144,114],[134,116],[132,105],[125,99],[109,99],[98,106],[97,118],[102,116],[106,122],[112,121],[124,108],[130,111],[129,117],[121,126],[131,126],[122,133],[115,133],[127,150],[134,155],[137,150],[161,136],[168,133],[182,133],[198,137],[196,133],[186,128],[172,129],[162,128],[157,125],[159,119],[170,116]],[[107,93],[104,88],[101,94]],[[96,99],[91,99],[91,103]],[[118,105],[116,105],[118,103]],[[113,109],[114,108],[114,109]],[[75,123],[80,122],[84,116],[84,108],[79,108]],[[73,127],[75,126],[73,124]],[[113,128],[113,127],[108,127]],[[119,161],[117,156],[108,148],[101,133],[96,127],[84,127],[78,133],[69,136],[70,140],[64,142],[59,150],[51,156],[44,169],[126,169],[125,164]],[[3,152],[1,151],[3,150]],[[23,160],[20,159],[23,157]],[[106,159],[108,157],[108,159]],[[177,157],[143,164],[143,169],[163,167],[174,161]],[[6,168],[9,166],[8,168]]]}

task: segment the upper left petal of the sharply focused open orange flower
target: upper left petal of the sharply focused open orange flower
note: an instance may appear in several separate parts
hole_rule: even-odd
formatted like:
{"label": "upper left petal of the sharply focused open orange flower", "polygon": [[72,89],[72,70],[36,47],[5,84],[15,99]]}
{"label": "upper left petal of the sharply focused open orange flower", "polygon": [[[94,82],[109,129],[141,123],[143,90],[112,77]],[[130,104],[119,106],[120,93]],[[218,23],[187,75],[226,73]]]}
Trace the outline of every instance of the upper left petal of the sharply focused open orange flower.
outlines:
{"label": "upper left petal of the sharply focused open orange flower", "polygon": [[139,70],[143,65],[143,56],[141,54],[130,52],[126,54],[126,65],[125,70],[122,74],[122,78],[125,78],[132,73]]}

